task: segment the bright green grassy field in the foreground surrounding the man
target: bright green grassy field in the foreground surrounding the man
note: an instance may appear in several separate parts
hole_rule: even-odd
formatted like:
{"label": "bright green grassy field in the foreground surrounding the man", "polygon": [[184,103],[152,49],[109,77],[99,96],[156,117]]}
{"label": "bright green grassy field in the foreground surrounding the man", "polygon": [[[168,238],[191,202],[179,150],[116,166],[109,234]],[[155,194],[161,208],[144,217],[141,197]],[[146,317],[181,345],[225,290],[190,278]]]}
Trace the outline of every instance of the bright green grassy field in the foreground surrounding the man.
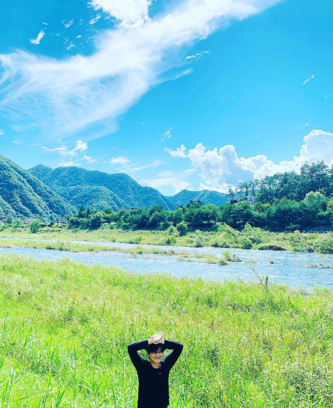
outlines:
{"label": "bright green grassy field in the foreground surrounding the man", "polygon": [[171,408],[333,407],[333,293],[0,256],[1,408],[136,406],[127,345],[184,344]]}

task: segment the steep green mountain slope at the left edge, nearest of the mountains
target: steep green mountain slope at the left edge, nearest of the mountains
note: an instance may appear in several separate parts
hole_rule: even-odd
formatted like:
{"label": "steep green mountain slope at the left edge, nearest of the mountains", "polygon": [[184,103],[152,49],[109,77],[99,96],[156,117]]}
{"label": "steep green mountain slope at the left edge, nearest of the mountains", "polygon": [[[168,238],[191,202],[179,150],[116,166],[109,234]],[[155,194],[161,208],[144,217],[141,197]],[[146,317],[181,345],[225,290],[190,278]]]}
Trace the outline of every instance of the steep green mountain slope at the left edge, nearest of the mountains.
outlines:
{"label": "steep green mountain slope at the left edge, nearest of the mountains", "polygon": [[46,221],[74,212],[67,200],[0,154],[0,217],[38,217]]}

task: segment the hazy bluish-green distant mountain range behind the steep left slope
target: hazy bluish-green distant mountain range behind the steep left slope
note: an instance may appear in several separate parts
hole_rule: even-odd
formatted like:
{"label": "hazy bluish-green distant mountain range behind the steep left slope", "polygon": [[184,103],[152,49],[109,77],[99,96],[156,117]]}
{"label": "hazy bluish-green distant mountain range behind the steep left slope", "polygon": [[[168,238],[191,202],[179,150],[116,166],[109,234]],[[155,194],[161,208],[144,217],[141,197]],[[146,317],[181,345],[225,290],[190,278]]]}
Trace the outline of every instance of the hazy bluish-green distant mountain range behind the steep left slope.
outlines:
{"label": "hazy bluish-green distant mountain range behind the steep left slope", "polygon": [[141,186],[125,173],[108,174],[75,166],[52,169],[43,164],[29,171],[76,208],[83,204],[91,209],[111,207],[116,210],[158,204],[167,210],[173,210],[178,205],[186,205],[190,200],[216,205],[227,201],[225,194],[209,190],[183,190],[168,197],[155,188]]}

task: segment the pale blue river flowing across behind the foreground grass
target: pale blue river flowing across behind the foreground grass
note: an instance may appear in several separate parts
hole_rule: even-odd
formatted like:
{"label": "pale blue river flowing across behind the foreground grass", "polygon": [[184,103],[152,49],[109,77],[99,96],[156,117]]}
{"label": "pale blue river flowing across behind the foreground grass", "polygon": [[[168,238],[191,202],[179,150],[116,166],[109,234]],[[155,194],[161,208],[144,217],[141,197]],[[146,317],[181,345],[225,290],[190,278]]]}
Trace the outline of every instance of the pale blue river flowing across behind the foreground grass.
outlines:
{"label": "pale blue river flowing across behind the foreground grass", "polygon": [[[8,238],[3,238],[8,239]],[[15,238],[17,239],[17,238]],[[29,239],[31,240],[31,239]],[[35,239],[37,241],[56,242],[54,239]],[[104,246],[116,246],[119,248],[132,248],[137,245],[119,242],[87,242],[69,241],[82,244],[100,244]],[[190,248],[187,246],[162,246],[140,245],[147,248],[173,249],[176,252],[188,252],[190,254],[213,254],[222,256],[223,248]],[[64,257],[75,262],[84,264],[103,264],[117,266],[126,271],[136,273],[165,272],[177,277],[202,277],[224,281],[228,279],[257,280],[246,261],[255,261],[260,276],[269,275],[270,282],[287,284],[294,288],[312,288],[324,286],[333,289],[333,255],[319,253],[293,252],[293,251],[258,251],[231,248],[229,252],[242,260],[242,262],[229,262],[228,265],[220,266],[203,263],[200,259],[192,258],[193,262],[180,262],[177,255],[145,254],[133,256],[120,251],[102,251],[98,253],[64,252],[35,248],[0,248],[0,253],[16,253],[31,256],[37,259],[62,259]],[[325,268],[311,268],[311,265],[322,265]]]}

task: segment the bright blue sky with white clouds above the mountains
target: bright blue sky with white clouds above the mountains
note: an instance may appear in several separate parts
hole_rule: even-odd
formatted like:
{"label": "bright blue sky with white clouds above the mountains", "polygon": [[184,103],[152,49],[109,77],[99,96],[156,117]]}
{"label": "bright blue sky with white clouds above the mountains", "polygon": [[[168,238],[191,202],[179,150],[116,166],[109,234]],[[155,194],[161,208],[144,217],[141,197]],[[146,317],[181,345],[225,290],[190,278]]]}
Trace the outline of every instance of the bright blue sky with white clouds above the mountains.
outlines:
{"label": "bright blue sky with white clouds above the mountains", "polygon": [[0,152],[174,194],[333,157],[330,0],[1,6]]}

